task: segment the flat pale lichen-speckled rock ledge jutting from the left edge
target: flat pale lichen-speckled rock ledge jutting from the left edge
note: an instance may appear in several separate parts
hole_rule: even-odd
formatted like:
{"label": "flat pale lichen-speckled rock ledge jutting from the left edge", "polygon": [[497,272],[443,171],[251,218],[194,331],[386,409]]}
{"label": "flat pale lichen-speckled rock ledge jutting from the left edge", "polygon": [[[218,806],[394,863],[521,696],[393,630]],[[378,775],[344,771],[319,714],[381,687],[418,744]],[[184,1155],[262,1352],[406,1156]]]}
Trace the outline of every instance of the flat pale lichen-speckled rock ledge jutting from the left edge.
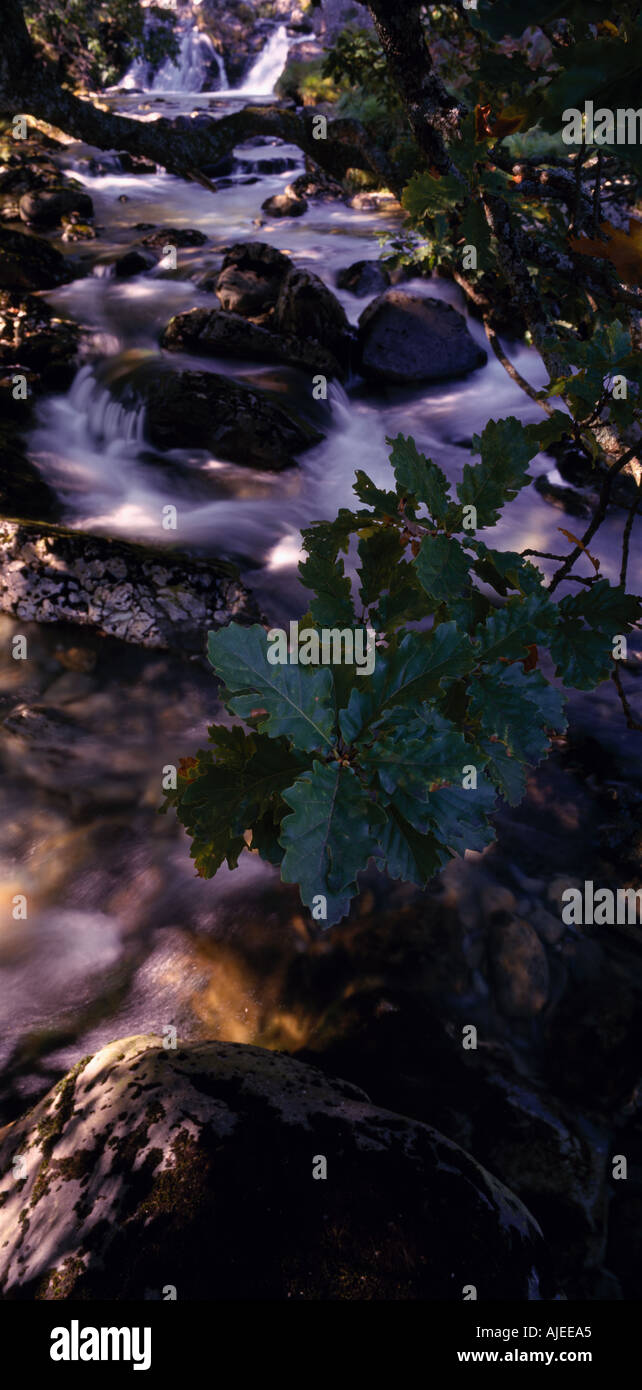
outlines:
{"label": "flat pale lichen-speckled rock ledge jutting from the left edge", "polygon": [[21,521],[0,521],[0,612],[183,653],[203,653],[210,627],[258,617],[233,564]]}

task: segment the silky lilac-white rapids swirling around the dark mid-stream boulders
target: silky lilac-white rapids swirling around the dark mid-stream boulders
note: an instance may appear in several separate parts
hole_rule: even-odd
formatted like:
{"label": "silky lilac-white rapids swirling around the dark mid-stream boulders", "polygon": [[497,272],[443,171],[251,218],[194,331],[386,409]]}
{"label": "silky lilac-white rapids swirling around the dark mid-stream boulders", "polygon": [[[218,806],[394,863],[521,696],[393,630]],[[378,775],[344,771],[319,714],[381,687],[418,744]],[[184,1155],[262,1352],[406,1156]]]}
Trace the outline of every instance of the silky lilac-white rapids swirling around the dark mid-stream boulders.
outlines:
{"label": "silky lilac-white rapids swirling around the dark mid-stream boulders", "polygon": [[[233,100],[232,93],[229,99]],[[261,153],[265,153],[263,146],[236,150],[245,160],[254,160]],[[278,145],[275,153],[296,152]],[[161,366],[158,339],[171,316],[192,307],[214,307],[211,293],[197,289],[189,278],[211,265],[211,243],[256,238],[253,221],[263,200],[278,192],[292,172],[268,175],[253,185],[238,175],[215,195],[167,174],[78,177],[92,193],[97,220],[121,246],[140,235],[136,225],[143,221],[200,228],[210,242],[201,249],[179,252],[176,278],[164,278],[158,271],[126,281],[93,275],[47,296],[63,313],[90,327],[96,346],[92,378],[85,368],[71,392],[44,402],[31,438],[32,456],[60,489],[74,524],[163,543],[167,535],[160,530],[161,510],[167,502],[176,502],[183,543],[233,555],[250,564],[263,562],[264,575],[253,571],[252,587],[267,585],[271,600],[281,603],[289,598],[296,603],[300,528],[315,517],[329,517],[338,507],[350,506],[356,467],[365,467],[379,485],[389,485],[386,435],[413,434],[420,448],[456,481],[470,460],[472,435],[484,430],[489,417],[539,418],[538,407],[491,356],[485,367],[464,381],[407,392],[381,389],[350,398],[334,388],[331,411],[321,421],[327,438],[302,455],[296,470],[265,474],[227,463],[204,449],[174,449],[160,456],[146,443],[143,416],[121,404],[110,411],[108,392],[117,378],[120,385],[129,381],[133,409],[136,373],[142,363],[151,371],[154,361]],[[121,204],[118,199],[124,195],[126,203]],[[393,220],[386,222],[377,213],[327,203],[313,206],[304,218],[288,227],[286,234],[278,224],[267,222],[258,235],[286,247],[296,264],[321,274],[354,322],[364,302],[347,291],[338,292],[335,277],[339,268],[356,260],[375,259],[378,236],[386,227],[390,234],[396,229]],[[410,282],[407,289],[446,299],[466,311],[457,288],[443,279]],[[484,345],[481,325],[468,320],[468,327]],[[510,353],[518,370],[534,385],[541,385],[538,356],[514,345]],[[279,368],[260,368],[252,363],[179,356],[172,356],[171,361],[175,367],[233,374],[257,385],[261,379],[267,385],[282,381],[279,389],[285,389],[286,379],[292,384],[292,374],[288,378]],[[306,382],[295,381],[293,389],[304,393]],[[550,459],[535,460],[532,471],[560,482]],[[563,520],[528,488],[506,509],[492,539],[510,549],[556,550],[556,528]],[[613,580],[617,578],[621,524],[623,513],[616,512],[598,538],[604,573]]]}

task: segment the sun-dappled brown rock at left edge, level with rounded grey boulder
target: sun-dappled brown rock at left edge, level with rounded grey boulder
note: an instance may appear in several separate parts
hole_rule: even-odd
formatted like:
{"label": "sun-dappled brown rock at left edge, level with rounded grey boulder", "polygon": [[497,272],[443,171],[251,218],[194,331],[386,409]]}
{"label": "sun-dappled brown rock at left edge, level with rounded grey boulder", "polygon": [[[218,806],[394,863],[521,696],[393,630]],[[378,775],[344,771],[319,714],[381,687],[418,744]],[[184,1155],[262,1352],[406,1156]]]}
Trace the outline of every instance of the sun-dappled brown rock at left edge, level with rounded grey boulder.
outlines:
{"label": "sun-dappled brown rock at left edge, level with rounded grey boulder", "polygon": [[74,374],[78,341],[76,324],[57,318],[44,300],[0,289],[0,366],[31,367],[43,386],[63,389]]}

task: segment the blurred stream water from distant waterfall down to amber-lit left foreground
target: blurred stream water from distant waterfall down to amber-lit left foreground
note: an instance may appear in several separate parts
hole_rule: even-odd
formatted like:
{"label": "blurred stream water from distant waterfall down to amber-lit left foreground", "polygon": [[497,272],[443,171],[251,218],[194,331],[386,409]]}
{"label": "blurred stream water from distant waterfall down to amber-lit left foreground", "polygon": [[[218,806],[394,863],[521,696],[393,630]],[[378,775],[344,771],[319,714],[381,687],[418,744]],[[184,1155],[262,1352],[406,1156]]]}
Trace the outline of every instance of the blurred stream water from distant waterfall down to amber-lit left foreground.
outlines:
{"label": "blurred stream water from distant waterfall down to amber-lit left foreground", "polygon": [[[274,90],[286,46],[285,31],[274,31],[242,89],[229,90],[220,67],[218,86],[200,92],[213,53],[185,40],[178,64],[165,64],[150,89],[140,90],[139,70],[107,99],[114,110],[143,120],[195,110],[222,115]],[[278,174],[261,170],[275,156],[289,167]],[[539,418],[489,354],[486,366],[450,384],[411,391],[334,384],[325,439],[281,474],[238,467],[204,450],[153,450],[145,410],[120,404],[110,384],[135,377],[142,364],[153,371],[168,356],[158,338],[172,314],[213,306],[211,293],[193,281],[220,265],[227,246],[260,239],[288,252],[322,277],[356,322],[368,300],[336,289],[336,272],[377,260],[400,218],[311,202],[300,218],[271,221],[261,204],[304,168],[300,152],[278,140],[239,146],[229,186],[215,193],[163,172],[132,175],[114,167],[92,174],[92,157],[108,165],[99,150],[67,146],[67,171],[93,199],[99,238],[76,249],[83,272],[44,296],[82,325],[83,361],[65,393],[40,403],[29,438],[31,457],[63,499],[69,525],[154,545],[171,539],[199,555],[231,557],[265,616],[282,623],[306,606],[296,571],[302,528],[352,505],[356,467],[389,484],[386,436],[413,435],[454,481],[488,418]],[[108,257],[143,235],[139,224],[196,228],[208,240],[179,249],[176,270],[161,261],[118,281]],[[409,281],[404,288],[466,313],[460,291],[443,279]],[[468,318],[468,328],[486,346],[475,320]],[[541,385],[538,356],[524,345],[506,346],[518,371]],[[172,354],[172,363],[246,381],[279,374],[295,392],[306,389],[302,374],[252,361]],[[567,485],[549,457],[538,456],[531,471]],[[167,503],[178,509],[178,531],[170,538],[161,527]],[[593,546],[611,581],[624,520],[625,512],[613,509]],[[493,545],[557,550],[564,524],[584,528],[529,486],[506,507]],[[629,567],[629,588],[638,592],[641,527],[638,520]],[[306,1009],[283,997],[285,970],[310,941],[296,892],[250,855],[235,873],[224,869],[214,883],[203,883],[174,817],[157,813],[163,767],[203,746],[207,723],[227,719],[211,677],[165,653],[124,648],[82,628],[8,619],[0,627],[3,653],[10,634],[24,631],[31,657],[19,663],[4,655],[0,671],[3,708],[7,699],[11,708],[3,748],[1,892],[7,902],[24,892],[29,903],[24,922],[7,913],[0,938],[4,1116],[13,1118],[25,1097],[40,1094],[81,1055],[132,1033],[175,1026],[186,1038],[304,1042]],[[573,696],[571,706],[593,738],[616,749],[613,756],[629,758],[639,769],[610,682],[595,695]],[[22,708],[32,714],[21,723],[15,710]],[[385,894],[381,883],[372,891]]]}

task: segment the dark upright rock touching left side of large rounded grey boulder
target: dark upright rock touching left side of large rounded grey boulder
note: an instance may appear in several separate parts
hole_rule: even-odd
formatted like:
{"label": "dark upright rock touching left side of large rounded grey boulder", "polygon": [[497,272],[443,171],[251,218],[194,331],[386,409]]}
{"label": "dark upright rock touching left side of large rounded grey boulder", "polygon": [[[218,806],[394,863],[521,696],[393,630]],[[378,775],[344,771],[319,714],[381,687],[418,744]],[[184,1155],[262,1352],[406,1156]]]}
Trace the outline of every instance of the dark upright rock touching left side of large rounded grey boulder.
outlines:
{"label": "dark upright rock touching left side of large rounded grey boulder", "polygon": [[314,338],[346,363],[353,334],[345,309],[318,275],[292,265],[274,310],[274,327],[293,338]]}

